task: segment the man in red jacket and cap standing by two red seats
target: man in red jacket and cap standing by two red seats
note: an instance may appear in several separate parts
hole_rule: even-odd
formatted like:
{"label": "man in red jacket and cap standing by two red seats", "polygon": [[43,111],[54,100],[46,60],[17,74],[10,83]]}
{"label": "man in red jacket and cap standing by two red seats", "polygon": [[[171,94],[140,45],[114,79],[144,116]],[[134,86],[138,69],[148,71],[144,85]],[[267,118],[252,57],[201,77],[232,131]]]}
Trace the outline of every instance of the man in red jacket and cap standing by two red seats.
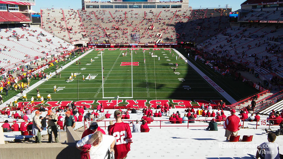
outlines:
{"label": "man in red jacket and cap standing by two red seats", "polygon": [[226,118],[223,124],[225,131],[226,140],[230,139],[231,135],[236,136],[241,128],[241,119],[235,115],[235,109],[232,109],[231,115]]}

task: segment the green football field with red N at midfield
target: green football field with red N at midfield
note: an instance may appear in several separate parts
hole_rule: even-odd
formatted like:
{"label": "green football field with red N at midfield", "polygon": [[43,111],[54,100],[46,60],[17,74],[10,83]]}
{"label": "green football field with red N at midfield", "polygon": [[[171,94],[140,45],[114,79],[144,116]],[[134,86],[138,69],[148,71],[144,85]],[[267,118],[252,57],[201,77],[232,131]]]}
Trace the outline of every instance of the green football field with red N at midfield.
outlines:
{"label": "green football field with red N at midfield", "polygon": [[[38,89],[41,96],[47,98],[51,94],[54,101],[102,100],[103,97],[115,100],[117,96],[120,99],[147,101],[224,99],[177,53],[173,50],[170,53],[169,50],[154,50],[153,56],[153,49],[143,53],[140,48],[133,50],[131,55],[129,49],[94,50],[78,60],[78,64],[73,63],[62,70],[61,78],[54,75]],[[126,51],[127,56],[123,56]],[[76,78],[69,80],[71,73],[76,74]],[[54,85],[57,87],[56,93],[53,93]],[[36,89],[31,90],[27,98],[31,96],[36,97]]]}

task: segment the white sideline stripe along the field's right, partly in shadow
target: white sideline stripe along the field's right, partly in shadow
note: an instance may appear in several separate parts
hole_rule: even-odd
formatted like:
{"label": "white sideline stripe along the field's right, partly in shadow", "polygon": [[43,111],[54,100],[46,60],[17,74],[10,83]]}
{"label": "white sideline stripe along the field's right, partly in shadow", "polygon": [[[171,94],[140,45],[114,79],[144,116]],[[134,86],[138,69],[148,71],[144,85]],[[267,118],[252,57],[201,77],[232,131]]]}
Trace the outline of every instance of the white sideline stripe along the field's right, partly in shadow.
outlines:
{"label": "white sideline stripe along the field's right, partly in shadow", "polygon": [[[180,55],[181,58],[185,61],[184,55],[182,55],[179,51],[173,48],[173,50]],[[219,85],[217,85],[213,80],[211,80],[206,74],[204,74],[200,69],[198,69],[193,63],[190,62],[190,60],[187,59],[187,63],[199,74],[201,75],[204,80],[206,80],[215,90],[217,90],[227,101],[230,103],[236,102],[234,98],[232,98],[227,92],[225,92]]]}

